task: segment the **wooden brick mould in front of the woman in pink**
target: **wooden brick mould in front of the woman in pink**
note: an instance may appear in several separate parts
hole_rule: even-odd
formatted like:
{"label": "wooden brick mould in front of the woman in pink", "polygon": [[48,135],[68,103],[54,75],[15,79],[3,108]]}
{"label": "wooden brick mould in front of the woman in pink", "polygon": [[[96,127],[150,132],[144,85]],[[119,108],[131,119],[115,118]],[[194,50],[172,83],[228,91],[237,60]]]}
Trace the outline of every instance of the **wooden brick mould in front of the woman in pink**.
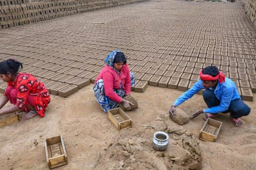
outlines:
{"label": "wooden brick mould in front of the woman in pink", "polygon": [[131,118],[119,107],[108,110],[108,118],[116,126],[118,131],[123,128],[132,127]]}

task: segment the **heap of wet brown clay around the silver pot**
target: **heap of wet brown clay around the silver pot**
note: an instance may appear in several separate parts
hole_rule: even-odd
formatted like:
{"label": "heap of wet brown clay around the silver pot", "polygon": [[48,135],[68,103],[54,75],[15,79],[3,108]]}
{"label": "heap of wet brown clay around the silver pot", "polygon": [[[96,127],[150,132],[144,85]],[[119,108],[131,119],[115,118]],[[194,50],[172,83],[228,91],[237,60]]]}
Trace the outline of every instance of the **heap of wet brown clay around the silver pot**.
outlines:
{"label": "heap of wet brown clay around the silver pot", "polygon": [[[154,150],[152,139],[156,131],[169,134],[167,150]],[[201,160],[195,137],[161,115],[151,123],[122,131],[120,137],[101,152],[95,169],[200,169]]]}

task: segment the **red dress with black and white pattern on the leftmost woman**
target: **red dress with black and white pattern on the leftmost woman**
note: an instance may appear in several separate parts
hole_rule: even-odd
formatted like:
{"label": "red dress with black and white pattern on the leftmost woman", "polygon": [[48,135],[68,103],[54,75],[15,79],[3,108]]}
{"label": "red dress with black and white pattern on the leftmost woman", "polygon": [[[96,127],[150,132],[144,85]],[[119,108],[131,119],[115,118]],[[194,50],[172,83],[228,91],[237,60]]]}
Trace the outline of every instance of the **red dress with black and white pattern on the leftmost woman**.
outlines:
{"label": "red dress with black and white pattern on the leftmost woman", "polygon": [[14,81],[8,82],[4,95],[25,112],[29,112],[28,105],[33,106],[40,117],[44,117],[45,109],[51,101],[44,84],[27,73],[19,73]]}

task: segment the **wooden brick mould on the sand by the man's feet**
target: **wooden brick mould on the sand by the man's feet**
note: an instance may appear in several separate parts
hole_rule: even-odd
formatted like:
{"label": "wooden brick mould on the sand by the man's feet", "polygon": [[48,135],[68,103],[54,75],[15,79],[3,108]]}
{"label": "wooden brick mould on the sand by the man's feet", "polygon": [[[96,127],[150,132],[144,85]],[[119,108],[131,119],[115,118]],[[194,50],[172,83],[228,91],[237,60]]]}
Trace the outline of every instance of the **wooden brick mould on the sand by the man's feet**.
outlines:
{"label": "wooden brick mould on the sand by the man's feet", "polygon": [[215,142],[221,129],[222,122],[207,118],[200,131],[199,139],[203,141]]}

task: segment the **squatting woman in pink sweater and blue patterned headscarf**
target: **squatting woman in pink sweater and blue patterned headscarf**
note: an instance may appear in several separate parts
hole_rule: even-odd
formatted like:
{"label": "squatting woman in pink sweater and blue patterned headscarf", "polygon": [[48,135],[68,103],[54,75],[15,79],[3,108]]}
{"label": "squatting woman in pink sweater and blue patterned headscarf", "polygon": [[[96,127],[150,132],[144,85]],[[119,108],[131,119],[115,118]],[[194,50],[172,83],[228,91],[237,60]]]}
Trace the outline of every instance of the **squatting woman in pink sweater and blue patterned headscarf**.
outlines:
{"label": "squatting woman in pink sweater and blue patterned headscarf", "polygon": [[131,86],[135,84],[134,74],[130,72],[126,62],[124,53],[119,50],[111,52],[105,59],[107,65],[95,80],[94,95],[105,113],[109,109],[119,107],[119,103],[123,103],[128,110],[133,105],[123,99],[131,95]]}

